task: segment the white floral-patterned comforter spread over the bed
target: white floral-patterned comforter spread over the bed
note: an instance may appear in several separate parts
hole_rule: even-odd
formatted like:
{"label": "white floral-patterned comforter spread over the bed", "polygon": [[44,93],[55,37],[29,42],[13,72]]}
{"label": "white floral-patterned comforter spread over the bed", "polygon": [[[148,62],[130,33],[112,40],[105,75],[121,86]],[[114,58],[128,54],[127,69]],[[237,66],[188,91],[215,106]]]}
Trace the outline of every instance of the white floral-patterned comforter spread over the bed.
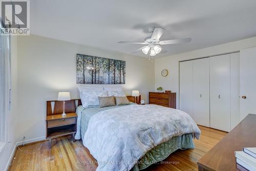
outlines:
{"label": "white floral-patterned comforter spread over the bed", "polygon": [[127,105],[94,115],[84,135],[97,170],[130,170],[146,152],[174,136],[200,130],[185,112],[159,105]]}

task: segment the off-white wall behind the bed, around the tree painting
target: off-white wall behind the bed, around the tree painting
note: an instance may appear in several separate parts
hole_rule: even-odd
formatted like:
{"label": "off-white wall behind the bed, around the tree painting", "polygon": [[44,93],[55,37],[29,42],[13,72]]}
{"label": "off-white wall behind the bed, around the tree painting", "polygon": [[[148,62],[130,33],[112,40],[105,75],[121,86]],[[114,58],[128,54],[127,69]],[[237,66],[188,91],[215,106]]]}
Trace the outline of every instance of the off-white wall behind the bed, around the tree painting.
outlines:
{"label": "off-white wall behind the bed, around the tree painting", "polygon": [[[154,62],[146,58],[30,35],[18,37],[18,133],[17,141],[45,138],[46,100],[69,91],[78,98],[76,54],[126,61],[124,91],[139,90],[148,101],[154,90]],[[29,141],[27,141],[29,142]]]}

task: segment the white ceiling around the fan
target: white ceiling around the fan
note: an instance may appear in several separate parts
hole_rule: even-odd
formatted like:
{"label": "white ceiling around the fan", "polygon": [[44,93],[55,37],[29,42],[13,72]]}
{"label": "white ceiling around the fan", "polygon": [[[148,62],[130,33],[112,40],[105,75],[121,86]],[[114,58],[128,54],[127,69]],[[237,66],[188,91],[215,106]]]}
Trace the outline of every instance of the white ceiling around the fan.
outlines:
{"label": "white ceiling around the fan", "polygon": [[31,0],[30,9],[32,34],[127,54],[143,45],[117,42],[144,41],[150,26],[166,29],[161,40],[192,38],[159,57],[256,36],[255,0]]}

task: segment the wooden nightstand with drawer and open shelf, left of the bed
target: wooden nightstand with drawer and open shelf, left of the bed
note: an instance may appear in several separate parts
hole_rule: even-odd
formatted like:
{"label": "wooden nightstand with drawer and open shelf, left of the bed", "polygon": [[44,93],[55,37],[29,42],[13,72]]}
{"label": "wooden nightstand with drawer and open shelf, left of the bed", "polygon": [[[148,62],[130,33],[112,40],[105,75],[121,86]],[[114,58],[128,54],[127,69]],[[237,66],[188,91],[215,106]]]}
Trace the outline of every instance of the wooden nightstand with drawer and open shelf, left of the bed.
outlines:
{"label": "wooden nightstand with drawer and open shelf, left of the bed", "polygon": [[66,117],[62,117],[61,114],[46,116],[46,139],[50,139],[50,147],[53,138],[72,134],[72,140],[74,141],[76,124],[76,113],[68,113]]}

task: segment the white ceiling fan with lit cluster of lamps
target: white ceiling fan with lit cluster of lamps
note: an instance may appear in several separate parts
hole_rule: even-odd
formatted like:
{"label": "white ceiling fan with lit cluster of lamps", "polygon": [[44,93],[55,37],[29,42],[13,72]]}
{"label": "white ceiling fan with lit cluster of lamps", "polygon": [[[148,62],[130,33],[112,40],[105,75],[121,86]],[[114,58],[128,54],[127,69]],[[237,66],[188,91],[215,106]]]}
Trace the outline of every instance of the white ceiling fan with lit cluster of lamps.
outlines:
{"label": "white ceiling fan with lit cluster of lamps", "polygon": [[163,28],[155,28],[150,27],[148,28],[148,32],[152,33],[151,37],[146,37],[144,42],[135,42],[135,41],[119,41],[119,44],[139,44],[139,45],[147,45],[143,46],[142,48],[136,50],[133,53],[142,51],[144,54],[148,54],[149,56],[155,56],[160,52],[166,53],[167,51],[164,50],[159,45],[171,45],[171,44],[182,44],[186,42],[190,42],[191,38],[181,38],[181,39],[172,39],[172,40],[162,40],[160,41],[160,37],[163,35],[165,29]]}

